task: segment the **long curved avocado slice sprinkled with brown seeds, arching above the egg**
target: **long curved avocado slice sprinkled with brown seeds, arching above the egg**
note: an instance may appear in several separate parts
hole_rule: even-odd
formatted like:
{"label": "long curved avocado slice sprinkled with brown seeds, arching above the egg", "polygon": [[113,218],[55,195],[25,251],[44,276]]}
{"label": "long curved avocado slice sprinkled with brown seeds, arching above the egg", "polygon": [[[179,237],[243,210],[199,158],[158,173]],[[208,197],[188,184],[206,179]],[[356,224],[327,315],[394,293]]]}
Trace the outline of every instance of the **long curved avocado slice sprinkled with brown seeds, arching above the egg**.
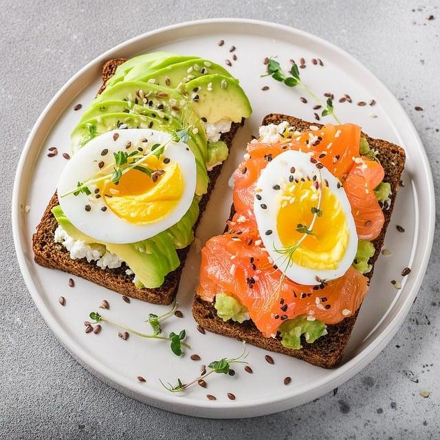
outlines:
{"label": "long curved avocado slice sprinkled with brown seeds, arching above the egg", "polygon": [[192,126],[190,135],[199,145],[201,154],[206,161],[208,153],[206,151],[205,127],[199,116],[192,110],[192,106],[188,104],[188,100],[176,90],[143,81],[124,81],[105,89],[100,96],[91,102],[91,106],[106,100],[127,100],[135,104],[142,104],[142,97],[148,101],[148,107],[173,116],[184,126]]}

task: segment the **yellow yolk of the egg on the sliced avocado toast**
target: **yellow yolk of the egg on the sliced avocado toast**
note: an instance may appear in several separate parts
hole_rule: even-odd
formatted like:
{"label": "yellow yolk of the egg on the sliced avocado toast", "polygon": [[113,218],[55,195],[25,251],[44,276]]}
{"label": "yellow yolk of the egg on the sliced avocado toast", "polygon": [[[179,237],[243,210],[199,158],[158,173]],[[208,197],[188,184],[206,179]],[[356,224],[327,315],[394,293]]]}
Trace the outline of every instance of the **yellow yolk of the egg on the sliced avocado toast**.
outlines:
{"label": "yellow yolk of the egg on the sliced avocado toast", "polygon": [[148,157],[144,162],[152,170],[164,170],[153,181],[140,170],[129,170],[118,184],[109,181],[101,189],[107,206],[120,218],[144,225],[166,217],[179,203],[184,192],[184,176],[179,164]]}

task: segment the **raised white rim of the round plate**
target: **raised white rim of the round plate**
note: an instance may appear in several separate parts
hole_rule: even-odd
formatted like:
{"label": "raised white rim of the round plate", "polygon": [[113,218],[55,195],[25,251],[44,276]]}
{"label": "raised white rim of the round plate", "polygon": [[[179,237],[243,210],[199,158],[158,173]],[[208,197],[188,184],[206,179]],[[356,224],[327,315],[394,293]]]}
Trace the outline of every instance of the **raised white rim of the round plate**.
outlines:
{"label": "raised white rim of the round plate", "polygon": [[[52,316],[50,313],[50,309],[44,304],[43,299],[39,294],[39,288],[36,286],[34,281],[32,280],[32,274],[30,272],[30,267],[28,267],[28,261],[25,256],[25,252],[23,250],[23,245],[28,245],[29,243],[23,243],[21,240],[21,232],[20,232],[20,222],[22,212],[20,209],[20,194],[21,194],[21,177],[23,173],[23,168],[25,166],[25,159],[32,148],[32,144],[34,142],[34,137],[39,129],[41,123],[47,118],[47,114],[50,112],[54,104],[61,98],[63,93],[69,89],[72,84],[78,80],[81,76],[83,76],[89,69],[93,69],[97,65],[102,64],[104,60],[109,58],[109,56],[114,56],[115,53],[124,50],[124,48],[129,47],[138,41],[151,39],[153,36],[157,34],[161,34],[164,32],[168,32],[170,30],[182,30],[184,28],[197,27],[203,25],[211,25],[211,24],[223,24],[227,25],[228,23],[241,23],[250,26],[257,26],[263,28],[276,28],[280,32],[284,32],[287,34],[297,34],[306,39],[311,39],[316,43],[323,45],[325,47],[329,47],[331,50],[338,52],[341,56],[348,59],[357,67],[360,67],[365,74],[369,75],[370,79],[373,80],[377,87],[381,87],[384,93],[388,94],[391,98],[393,98],[394,104],[397,104],[397,108],[400,109],[401,117],[404,119],[405,124],[408,126],[410,133],[415,137],[416,142],[419,144],[421,148],[419,148],[419,159],[420,165],[423,166],[424,172],[427,174],[428,181],[430,185],[428,186],[428,209],[430,210],[428,217],[428,233],[426,234],[426,240],[424,243],[425,252],[423,253],[421,259],[421,265],[417,272],[417,276],[413,281],[413,285],[410,288],[410,292],[408,292],[404,303],[401,305],[400,309],[397,311],[395,317],[392,318],[391,322],[386,325],[386,328],[381,332],[375,340],[373,340],[366,349],[363,349],[360,353],[355,355],[351,360],[347,361],[342,366],[331,371],[329,375],[325,375],[316,382],[311,387],[311,391],[305,393],[302,391],[301,393],[289,393],[288,395],[283,395],[283,397],[277,398],[276,396],[272,397],[272,399],[263,399],[252,402],[252,404],[247,401],[245,404],[240,401],[231,401],[231,402],[221,402],[221,401],[202,401],[189,399],[185,396],[178,396],[176,398],[175,395],[166,393],[161,393],[153,388],[142,388],[140,389],[133,380],[129,380],[129,378],[124,377],[124,375],[115,373],[109,367],[104,364],[101,364],[98,360],[91,358],[85,350],[72,340],[68,333],[61,327],[56,318]],[[245,30],[243,30],[245,33]],[[56,119],[55,119],[56,120]],[[49,132],[49,131],[48,131]],[[45,136],[46,137],[46,136]],[[43,138],[43,140],[45,139]],[[427,213],[428,214],[428,213]],[[39,118],[36,120],[30,134],[28,135],[28,139],[25,142],[25,146],[23,151],[21,152],[21,156],[19,159],[19,164],[17,166],[16,174],[14,177],[14,187],[12,192],[12,234],[14,238],[14,248],[16,250],[17,259],[19,261],[19,267],[21,270],[21,275],[25,281],[25,285],[30,292],[32,300],[36,304],[37,308],[40,311],[41,316],[43,316],[45,322],[50,327],[56,338],[61,342],[63,347],[67,349],[67,351],[73,355],[73,357],[85,368],[96,375],[100,380],[106,382],[111,385],[113,388],[118,389],[122,393],[126,395],[130,395],[135,399],[144,401],[147,404],[151,404],[153,406],[157,406],[158,408],[164,408],[167,410],[172,410],[173,412],[179,412],[181,414],[186,415],[195,415],[195,411],[200,410],[197,415],[201,417],[212,417],[212,418],[236,418],[236,417],[256,417],[259,415],[266,415],[273,412],[278,412],[280,410],[286,410],[288,408],[292,408],[299,404],[304,404],[315,397],[320,397],[321,395],[331,391],[332,388],[336,386],[340,386],[340,384],[346,382],[351,379],[353,375],[361,371],[367,364],[369,364],[373,359],[382,351],[388,342],[395,336],[397,330],[403,323],[404,319],[408,315],[410,310],[410,306],[419,292],[421,283],[423,281],[424,275],[426,273],[426,268],[428,266],[428,261],[430,258],[430,252],[432,249],[432,243],[434,239],[434,223],[435,223],[435,199],[434,199],[434,184],[432,180],[432,173],[430,170],[428,157],[426,155],[425,148],[415,126],[412,124],[409,116],[406,111],[401,107],[401,104],[398,102],[397,98],[388,90],[386,85],[382,83],[367,67],[365,67],[360,61],[351,56],[345,50],[342,50],[337,45],[326,41],[325,39],[320,38],[319,36],[315,36],[310,34],[309,32],[305,32],[303,30],[299,30],[297,28],[292,28],[288,25],[283,25],[279,23],[273,23],[270,21],[262,21],[262,20],[253,20],[253,19],[233,19],[233,18],[221,18],[221,19],[202,19],[195,21],[185,21],[181,23],[175,23],[172,25],[167,25],[162,28],[157,28],[155,30],[151,30],[149,32],[145,32],[144,34],[140,34],[131,39],[123,41],[122,43],[111,47],[109,50],[102,53],[100,56],[91,60],[87,65],[81,68],[72,78],[70,78],[61,89],[54,95],[54,97],[47,103],[45,109],[39,115]],[[29,237],[27,239],[29,241]],[[393,306],[394,307],[394,306]],[[389,313],[390,310],[388,310]],[[307,394],[307,397],[305,396]],[[301,398],[302,397],[302,398]],[[298,400],[294,402],[294,399]],[[243,412],[245,411],[245,412]]]}

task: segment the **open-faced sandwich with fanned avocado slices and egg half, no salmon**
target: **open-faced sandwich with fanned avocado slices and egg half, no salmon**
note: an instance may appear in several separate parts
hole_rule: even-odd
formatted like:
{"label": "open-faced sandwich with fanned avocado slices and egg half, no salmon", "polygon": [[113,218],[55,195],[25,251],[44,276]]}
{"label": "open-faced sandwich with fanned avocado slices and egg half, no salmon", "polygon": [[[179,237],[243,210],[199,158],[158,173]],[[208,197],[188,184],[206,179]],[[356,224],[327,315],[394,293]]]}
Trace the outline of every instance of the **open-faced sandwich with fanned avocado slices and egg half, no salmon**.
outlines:
{"label": "open-faced sandwich with fanned avocado slices and egg half, no salmon", "polygon": [[34,234],[34,259],[169,304],[250,103],[228,71],[195,56],[114,59],[102,79],[72,132],[72,158]]}

